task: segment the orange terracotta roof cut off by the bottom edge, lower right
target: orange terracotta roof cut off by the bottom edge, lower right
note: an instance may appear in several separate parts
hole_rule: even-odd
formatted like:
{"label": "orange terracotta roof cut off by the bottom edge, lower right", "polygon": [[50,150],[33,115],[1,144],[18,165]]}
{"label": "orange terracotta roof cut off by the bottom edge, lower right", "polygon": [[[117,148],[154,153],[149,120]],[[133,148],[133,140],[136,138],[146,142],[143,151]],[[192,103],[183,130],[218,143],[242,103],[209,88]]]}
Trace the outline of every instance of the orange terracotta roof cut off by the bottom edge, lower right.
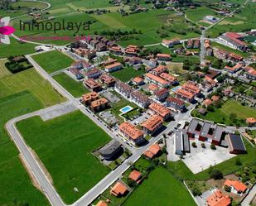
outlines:
{"label": "orange terracotta roof cut off by the bottom edge, lower right", "polygon": [[206,203],[208,206],[229,206],[231,204],[231,199],[217,189],[214,194],[207,198]]}

